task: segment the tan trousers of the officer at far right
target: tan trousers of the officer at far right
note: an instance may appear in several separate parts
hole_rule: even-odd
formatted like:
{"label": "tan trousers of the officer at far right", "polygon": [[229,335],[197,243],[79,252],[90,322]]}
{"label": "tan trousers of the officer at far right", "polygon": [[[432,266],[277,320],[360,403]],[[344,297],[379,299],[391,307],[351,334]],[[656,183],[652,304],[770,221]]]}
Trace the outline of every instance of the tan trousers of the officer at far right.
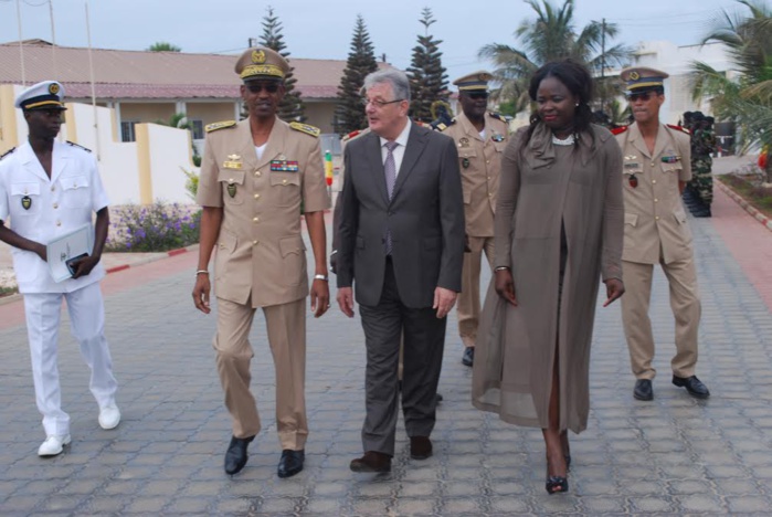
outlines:
{"label": "tan trousers of the officer at far right", "polygon": [[[670,286],[670,308],[676,318],[676,355],[670,366],[674,374],[691,377],[697,365],[697,329],[701,314],[695,262],[689,258],[660,265]],[[622,323],[633,373],[636,379],[654,379],[654,336],[648,317],[654,265],[623,261],[622,271],[625,285]]]}

